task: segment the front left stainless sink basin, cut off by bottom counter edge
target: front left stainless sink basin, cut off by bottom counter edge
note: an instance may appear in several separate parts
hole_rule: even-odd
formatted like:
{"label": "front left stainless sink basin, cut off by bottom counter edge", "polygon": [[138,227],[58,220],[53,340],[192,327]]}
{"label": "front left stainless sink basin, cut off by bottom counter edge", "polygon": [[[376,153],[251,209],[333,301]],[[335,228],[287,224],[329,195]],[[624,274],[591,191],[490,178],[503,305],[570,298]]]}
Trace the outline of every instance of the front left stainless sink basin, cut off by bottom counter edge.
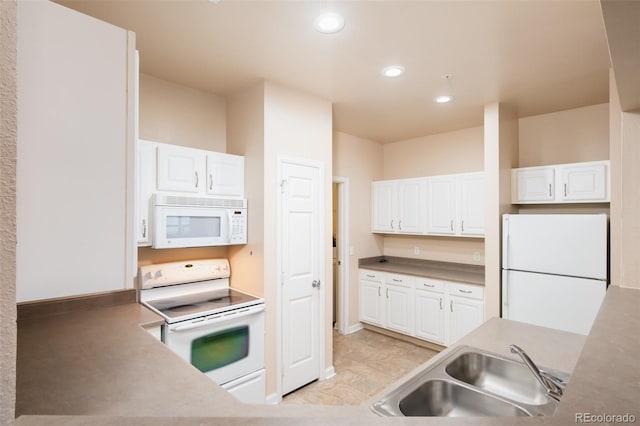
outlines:
{"label": "front left stainless sink basin, cut off by bottom counter edge", "polygon": [[405,416],[528,416],[522,408],[448,380],[428,380],[400,400]]}

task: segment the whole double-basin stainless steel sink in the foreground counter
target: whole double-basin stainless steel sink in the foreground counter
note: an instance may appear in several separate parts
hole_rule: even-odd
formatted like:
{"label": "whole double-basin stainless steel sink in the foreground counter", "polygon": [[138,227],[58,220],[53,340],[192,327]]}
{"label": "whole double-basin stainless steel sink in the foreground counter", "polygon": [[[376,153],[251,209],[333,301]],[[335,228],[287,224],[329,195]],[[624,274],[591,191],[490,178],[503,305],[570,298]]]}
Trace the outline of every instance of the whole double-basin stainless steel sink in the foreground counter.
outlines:
{"label": "whole double-basin stainless steel sink in the foreground counter", "polygon": [[461,346],[371,408],[383,416],[540,416],[553,415],[557,401],[519,360]]}

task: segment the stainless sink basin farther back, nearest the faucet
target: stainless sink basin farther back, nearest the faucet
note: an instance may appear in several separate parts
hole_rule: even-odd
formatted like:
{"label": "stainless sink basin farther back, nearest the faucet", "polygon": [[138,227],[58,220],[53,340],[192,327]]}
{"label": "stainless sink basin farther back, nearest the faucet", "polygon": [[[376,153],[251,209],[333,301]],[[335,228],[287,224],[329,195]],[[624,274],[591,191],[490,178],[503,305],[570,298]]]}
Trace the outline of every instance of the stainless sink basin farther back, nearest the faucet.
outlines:
{"label": "stainless sink basin farther back, nearest the faucet", "polygon": [[531,371],[521,362],[467,352],[447,365],[454,379],[525,404],[546,404],[549,398]]}

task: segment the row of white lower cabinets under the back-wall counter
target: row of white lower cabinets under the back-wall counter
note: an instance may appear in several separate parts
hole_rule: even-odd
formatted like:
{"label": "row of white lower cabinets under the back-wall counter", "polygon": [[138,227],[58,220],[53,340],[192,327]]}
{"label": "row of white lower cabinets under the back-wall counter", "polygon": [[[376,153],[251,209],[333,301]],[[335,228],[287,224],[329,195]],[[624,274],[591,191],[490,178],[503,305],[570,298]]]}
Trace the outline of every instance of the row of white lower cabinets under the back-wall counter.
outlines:
{"label": "row of white lower cabinets under the back-wall counter", "polygon": [[360,321],[448,346],[484,322],[484,287],[360,269]]}

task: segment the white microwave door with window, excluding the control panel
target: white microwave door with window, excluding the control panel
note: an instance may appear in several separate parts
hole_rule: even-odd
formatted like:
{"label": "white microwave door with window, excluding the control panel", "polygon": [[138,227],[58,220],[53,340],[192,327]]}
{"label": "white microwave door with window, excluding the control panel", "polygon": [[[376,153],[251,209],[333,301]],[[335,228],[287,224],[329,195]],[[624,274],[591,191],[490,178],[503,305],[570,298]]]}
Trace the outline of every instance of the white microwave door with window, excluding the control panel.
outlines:
{"label": "white microwave door with window, excluding the control panel", "polygon": [[228,245],[229,210],[157,205],[153,248]]}

